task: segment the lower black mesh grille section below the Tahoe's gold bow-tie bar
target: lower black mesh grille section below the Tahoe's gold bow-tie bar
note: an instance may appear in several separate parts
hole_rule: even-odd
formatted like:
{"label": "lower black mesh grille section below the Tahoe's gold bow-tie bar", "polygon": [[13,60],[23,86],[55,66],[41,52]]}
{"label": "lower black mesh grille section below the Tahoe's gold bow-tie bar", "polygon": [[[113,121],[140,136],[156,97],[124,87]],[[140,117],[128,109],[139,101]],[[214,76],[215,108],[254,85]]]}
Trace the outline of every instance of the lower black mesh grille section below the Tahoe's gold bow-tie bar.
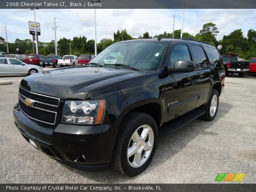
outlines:
{"label": "lower black mesh grille section below the Tahoe's gold bow-tie bar", "polygon": [[20,101],[21,110],[27,114],[30,118],[38,120],[40,122],[46,122],[49,124],[55,124],[56,113],[40,110],[38,108],[28,107],[22,101]]}

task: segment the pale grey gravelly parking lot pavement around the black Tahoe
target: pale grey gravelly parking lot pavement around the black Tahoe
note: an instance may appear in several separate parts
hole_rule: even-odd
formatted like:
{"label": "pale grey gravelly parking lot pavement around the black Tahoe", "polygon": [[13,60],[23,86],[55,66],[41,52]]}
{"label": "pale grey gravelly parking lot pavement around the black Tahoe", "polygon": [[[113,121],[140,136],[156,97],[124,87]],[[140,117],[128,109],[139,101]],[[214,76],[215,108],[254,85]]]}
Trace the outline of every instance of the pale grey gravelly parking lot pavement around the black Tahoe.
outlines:
{"label": "pale grey gravelly parking lot pavement around the black Tahoe", "polygon": [[[245,173],[240,183],[256,181],[255,75],[228,76],[215,120],[194,120],[160,138],[150,166],[133,178],[114,170],[76,170],[29,144],[17,130],[12,116],[22,78],[0,76],[13,82],[0,86],[0,183],[214,183],[218,173]],[[6,180],[7,174],[26,177]],[[44,180],[31,181],[28,176],[40,176]],[[45,180],[46,176],[77,176],[77,180],[52,177]]]}

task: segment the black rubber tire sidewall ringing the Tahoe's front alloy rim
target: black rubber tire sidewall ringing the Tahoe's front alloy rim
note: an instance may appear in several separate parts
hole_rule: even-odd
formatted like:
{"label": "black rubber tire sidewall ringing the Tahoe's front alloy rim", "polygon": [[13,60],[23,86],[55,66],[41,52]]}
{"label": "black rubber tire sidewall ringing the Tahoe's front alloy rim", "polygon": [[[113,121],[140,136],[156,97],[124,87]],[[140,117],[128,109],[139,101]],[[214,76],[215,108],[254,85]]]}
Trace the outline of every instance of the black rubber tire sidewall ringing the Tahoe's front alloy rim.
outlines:
{"label": "black rubber tire sidewall ringing the Tahoe's front alloy rim", "polygon": [[[130,140],[131,140],[132,135],[134,134],[135,130],[137,130],[137,128],[142,125],[149,125],[152,128],[152,130],[154,132],[154,144],[153,144],[153,148],[150,153],[150,156],[148,157],[146,162],[138,168],[133,168],[132,166],[130,166],[128,159],[127,159],[128,145],[130,143]],[[122,166],[123,166],[123,170],[124,170],[125,174],[127,174],[129,176],[136,176],[136,175],[140,174],[141,172],[143,172],[148,167],[148,165],[150,164],[150,162],[154,156],[154,153],[156,151],[157,140],[158,140],[158,129],[157,129],[156,122],[154,121],[153,118],[151,118],[150,116],[144,117],[144,118],[140,119],[140,121],[136,121],[133,124],[132,129],[130,129],[128,131],[127,137],[124,140],[124,144],[122,146],[121,162],[122,162]]]}

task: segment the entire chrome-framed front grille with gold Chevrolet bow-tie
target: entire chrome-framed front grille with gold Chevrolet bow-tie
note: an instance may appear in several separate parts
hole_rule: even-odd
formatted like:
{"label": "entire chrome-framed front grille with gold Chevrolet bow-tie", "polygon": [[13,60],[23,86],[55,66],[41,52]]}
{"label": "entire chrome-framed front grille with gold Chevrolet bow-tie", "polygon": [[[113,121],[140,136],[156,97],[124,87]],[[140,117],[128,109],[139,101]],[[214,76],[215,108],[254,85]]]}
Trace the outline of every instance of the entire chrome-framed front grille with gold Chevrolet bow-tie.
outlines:
{"label": "entire chrome-framed front grille with gold Chevrolet bow-tie", "polygon": [[20,88],[19,104],[29,118],[45,124],[55,125],[60,99],[29,92]]}

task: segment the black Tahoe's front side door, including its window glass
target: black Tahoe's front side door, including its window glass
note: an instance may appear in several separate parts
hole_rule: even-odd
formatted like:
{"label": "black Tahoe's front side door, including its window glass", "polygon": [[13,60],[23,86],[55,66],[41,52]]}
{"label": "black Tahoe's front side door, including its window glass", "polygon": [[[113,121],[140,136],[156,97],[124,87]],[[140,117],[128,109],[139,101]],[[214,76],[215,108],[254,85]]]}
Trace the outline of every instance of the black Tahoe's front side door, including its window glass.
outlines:
{"label": "black Tahoe's front side door, including its window glass", "polygon": [[[192,56],[186,44],[174,46],[169,66],[178,60],[191,60]],[[165,78],[166,84],[166,121],[172,120],[196,107],[198,100],[198,72],[173,73]]]}

